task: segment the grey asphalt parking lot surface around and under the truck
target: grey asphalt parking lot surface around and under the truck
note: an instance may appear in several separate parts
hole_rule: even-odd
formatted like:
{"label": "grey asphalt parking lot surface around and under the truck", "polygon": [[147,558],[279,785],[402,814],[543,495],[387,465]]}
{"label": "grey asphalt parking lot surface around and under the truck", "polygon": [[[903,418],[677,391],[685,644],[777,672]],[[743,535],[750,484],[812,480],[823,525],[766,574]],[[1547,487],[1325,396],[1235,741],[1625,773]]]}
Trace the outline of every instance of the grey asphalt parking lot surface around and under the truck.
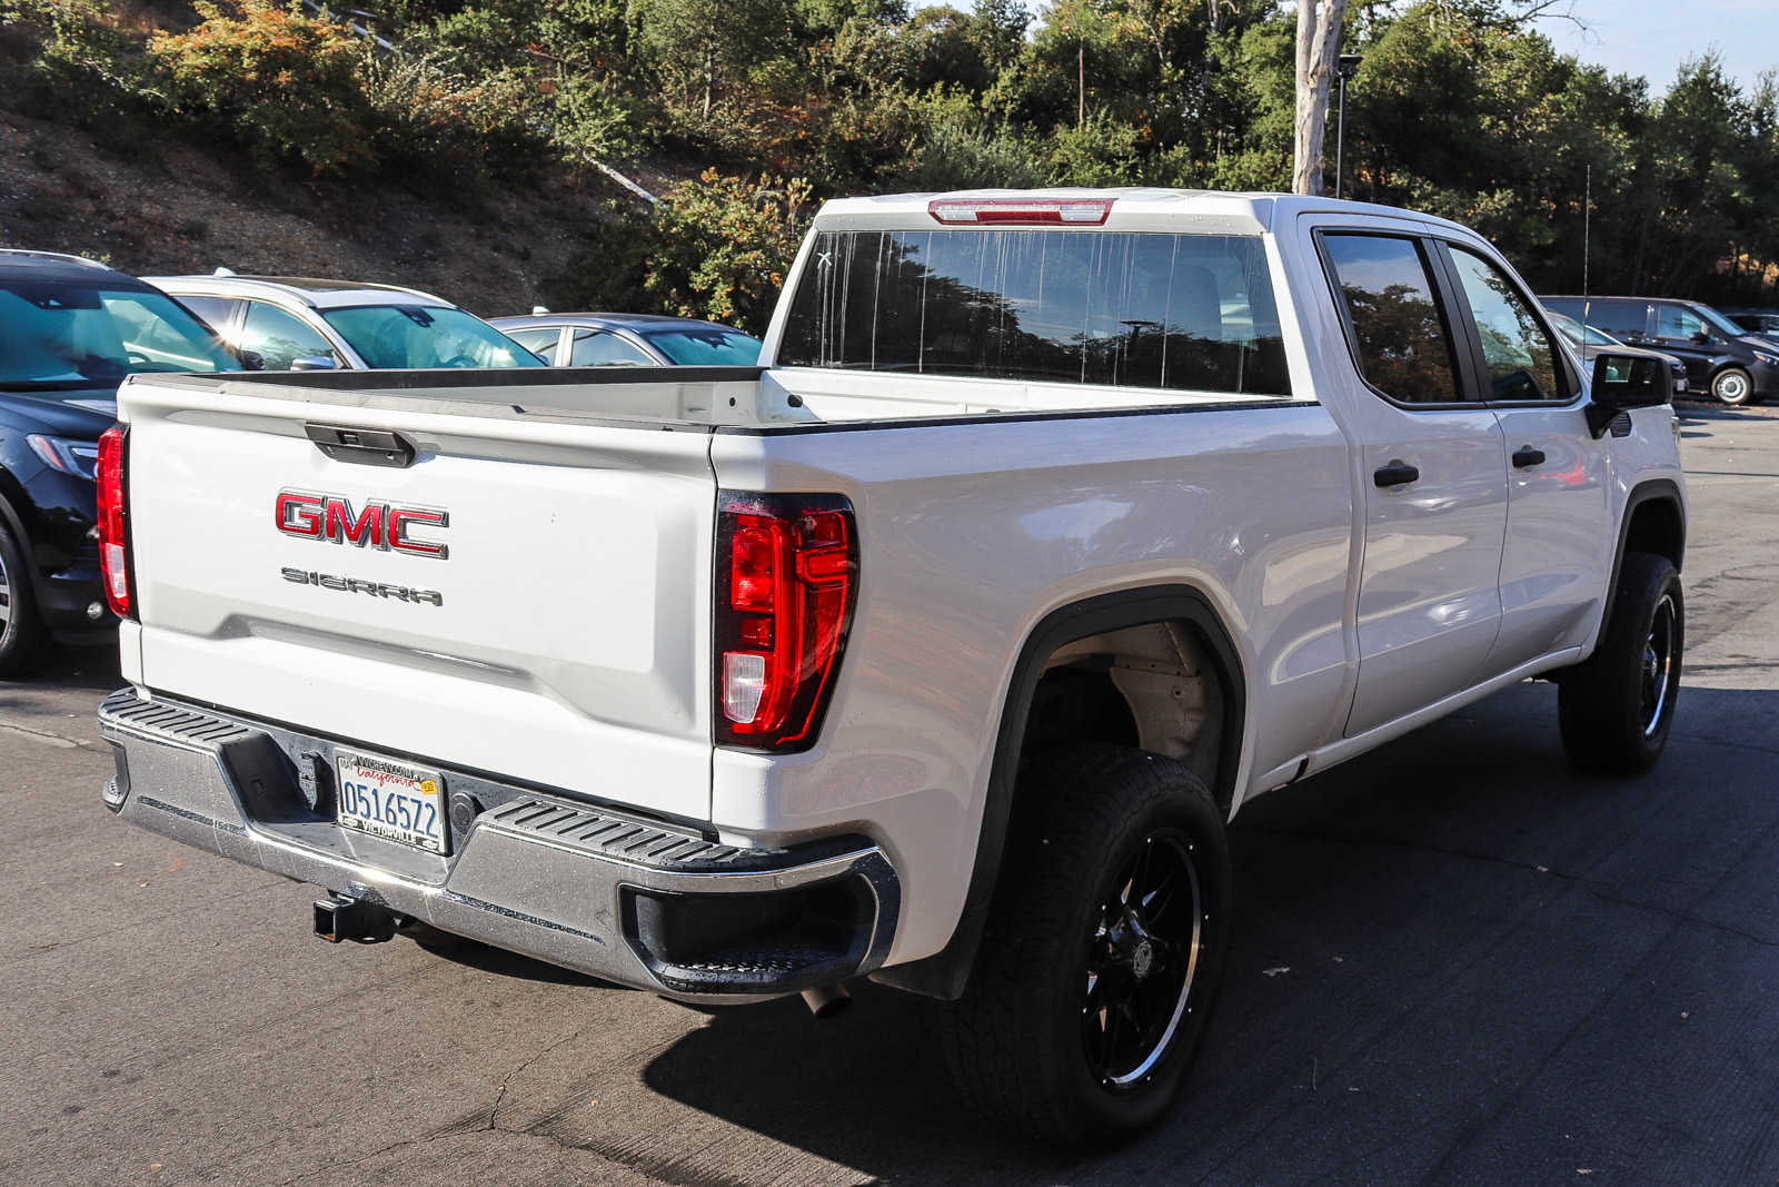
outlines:
{"label": "grey asphalt parking lot surface around and under the truck", "polygon": [[1779,411],[1683,406],[1688,657],[1647,778],[1525,683],[1254,803],[1190,1089],[1089,1160],[986,1132],[911,998],[699,1013],[117,824],[105,651],[0,683],[4,1183],[1772,1183]]}

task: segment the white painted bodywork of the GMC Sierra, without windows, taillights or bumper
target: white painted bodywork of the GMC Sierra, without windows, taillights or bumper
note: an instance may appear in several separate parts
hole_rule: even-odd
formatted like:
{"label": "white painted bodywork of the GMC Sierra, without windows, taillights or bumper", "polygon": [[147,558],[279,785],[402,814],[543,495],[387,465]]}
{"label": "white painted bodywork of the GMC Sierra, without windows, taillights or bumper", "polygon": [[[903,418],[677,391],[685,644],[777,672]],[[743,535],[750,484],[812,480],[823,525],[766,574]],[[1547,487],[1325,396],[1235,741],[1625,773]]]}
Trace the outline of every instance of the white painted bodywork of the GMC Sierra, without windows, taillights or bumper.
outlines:
{"label": "white painted bodywork of the GMC Sierra, without windows, taillights or bumper", "polygon": [[[1292,395],[785,367],[788,299],[747,381],[135,377],[119,408],[142,626],[125,628],[125,669],[149,694],[701,822],[744,849],[865,836],[900,881],[884,961],[900,965],[957,931],[1014,669],[1060,607],[1181,585],[1215,609],[1245,685],[1231,813],[1587,655],[1633,489],[1681,497],[1669,409],[1594,438],[1585,381],[1537,408],[1382,399],[1316,233],[1430,235],[1501,265],[1455,224],[1114,194],[1107,233],[1260,237]],[[829,203],[790,288],[818,233],[925,233],[929,198]],[[422,461],[331,461],[308,422],[400,431]],[[1516,466],[1523,447],[1546,461]],[[1377,486],[1398,459],[1420,480]],[[281,537],[286,488],[448,507],[450,559]],[[852,630],[802,753],[712,740],[719,491],[843,495],[856,516]],[[432,582],[443,605],[290,584],[283,566]]]}

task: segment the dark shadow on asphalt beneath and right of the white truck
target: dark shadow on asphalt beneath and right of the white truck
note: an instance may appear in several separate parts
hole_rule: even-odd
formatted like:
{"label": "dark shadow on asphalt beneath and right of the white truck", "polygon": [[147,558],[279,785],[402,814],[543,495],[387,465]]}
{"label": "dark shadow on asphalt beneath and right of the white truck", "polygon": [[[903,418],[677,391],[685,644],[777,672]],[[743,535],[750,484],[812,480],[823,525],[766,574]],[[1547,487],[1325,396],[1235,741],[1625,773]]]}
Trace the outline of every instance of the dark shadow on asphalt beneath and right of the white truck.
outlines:
{"label": "dark shadow on asphalt beneath and right of the white truck", "polygon": [[870,984],[833,1021],[720,1011],[644,1080],[886,1180],[1770,1180],[1779,1071],[1743,1045],[1779,1041],[1779,692],[1686,689],[1638,779],[1573,772],[1555,699],[1519,685],[1242,812],[1219,1016],[1123,1150],[1002,1137],[925,1005]]}

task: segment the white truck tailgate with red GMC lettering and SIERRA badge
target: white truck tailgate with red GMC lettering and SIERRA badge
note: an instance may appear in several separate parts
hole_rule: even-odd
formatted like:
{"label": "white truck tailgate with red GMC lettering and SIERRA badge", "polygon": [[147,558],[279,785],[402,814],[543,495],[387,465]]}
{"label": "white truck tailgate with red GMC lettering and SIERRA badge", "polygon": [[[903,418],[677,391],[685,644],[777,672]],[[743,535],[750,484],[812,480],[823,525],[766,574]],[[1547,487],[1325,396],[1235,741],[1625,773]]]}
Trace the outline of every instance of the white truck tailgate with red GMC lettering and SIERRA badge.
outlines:
{"label": "white truck tailgate with red GMC lettering and SIERRA badge", "polygon": [[[706,431],[153,381],[121,408],[148,689],[708,817]],[[416,456],[329,457],[306,425]]]}

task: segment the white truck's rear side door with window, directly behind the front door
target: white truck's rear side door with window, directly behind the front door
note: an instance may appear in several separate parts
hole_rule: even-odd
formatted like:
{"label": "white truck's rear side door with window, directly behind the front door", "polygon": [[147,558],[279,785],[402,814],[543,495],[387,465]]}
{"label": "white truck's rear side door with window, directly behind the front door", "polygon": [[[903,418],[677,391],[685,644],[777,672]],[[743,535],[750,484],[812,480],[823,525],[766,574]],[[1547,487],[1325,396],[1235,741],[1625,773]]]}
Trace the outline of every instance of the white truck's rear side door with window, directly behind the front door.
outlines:
{"label": "white truck's rear side door with window, directly behind the front door", "polygon": [[1375,224],[1315,238],[1352,354],[1364,482],[1352,737],[1482,676],[1501,625],[1507,473],[1437,247]]}

